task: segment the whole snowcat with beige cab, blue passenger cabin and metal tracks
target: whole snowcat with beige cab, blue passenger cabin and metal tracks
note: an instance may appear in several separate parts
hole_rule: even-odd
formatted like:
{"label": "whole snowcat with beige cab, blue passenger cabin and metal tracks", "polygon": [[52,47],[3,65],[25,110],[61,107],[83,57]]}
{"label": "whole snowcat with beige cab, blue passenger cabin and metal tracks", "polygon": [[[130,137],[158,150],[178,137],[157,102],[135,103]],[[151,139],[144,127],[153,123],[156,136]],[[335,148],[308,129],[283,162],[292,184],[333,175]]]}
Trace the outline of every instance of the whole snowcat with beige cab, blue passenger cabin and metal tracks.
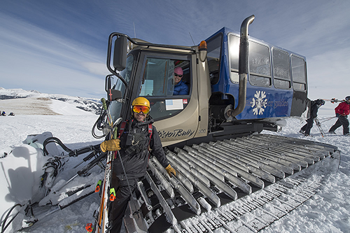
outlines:
{"label": "whole snowcat with beige cab, blue passenger cabin and metal tracks", "polygon": [[[240,33],[224,27],[191,47],[109,37],[113,121],[127,119],[131,101],[146,97],[178,172],[169,178],[150,158],[125,216],[127,232],[258,232],[316,193],[306,170],[339,164],[334,146],[259,134],[307,117],[310,101],[305,57],[249,37],[253,20]],[[173,92],[176,67],[188,94]]]}

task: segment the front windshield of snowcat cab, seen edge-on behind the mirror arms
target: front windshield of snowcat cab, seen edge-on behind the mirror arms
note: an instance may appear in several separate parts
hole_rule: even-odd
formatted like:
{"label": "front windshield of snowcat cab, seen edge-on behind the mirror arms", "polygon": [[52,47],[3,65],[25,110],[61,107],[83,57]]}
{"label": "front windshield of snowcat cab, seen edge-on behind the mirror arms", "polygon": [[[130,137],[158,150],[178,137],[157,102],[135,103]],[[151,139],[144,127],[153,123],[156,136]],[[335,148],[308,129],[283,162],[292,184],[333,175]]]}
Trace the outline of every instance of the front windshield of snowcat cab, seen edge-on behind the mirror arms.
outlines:
{"label": "front windshield of snowcat cab, seen edge-on behind the mirror arms", "polygon": [[[123,71],[120,71],[120,76],[124,78],[124,80],[129,84],[130,78],[132,75],[132,67],[134,65],[134,56],[129,55],[127,57],[127,64],[125,66],[125,69]],[[120,78],[113,78],[112,80],[113,89],[120,90],[122,92],[122,96],[124,97],[125,94],[125,84],[123,83]],[[118,118],[120,118],[120,112],[122,110],[123,103],[118,101],[112,101],[111,104],[109,104],[109,113],[111,114],[112,121],[116,122]]]}

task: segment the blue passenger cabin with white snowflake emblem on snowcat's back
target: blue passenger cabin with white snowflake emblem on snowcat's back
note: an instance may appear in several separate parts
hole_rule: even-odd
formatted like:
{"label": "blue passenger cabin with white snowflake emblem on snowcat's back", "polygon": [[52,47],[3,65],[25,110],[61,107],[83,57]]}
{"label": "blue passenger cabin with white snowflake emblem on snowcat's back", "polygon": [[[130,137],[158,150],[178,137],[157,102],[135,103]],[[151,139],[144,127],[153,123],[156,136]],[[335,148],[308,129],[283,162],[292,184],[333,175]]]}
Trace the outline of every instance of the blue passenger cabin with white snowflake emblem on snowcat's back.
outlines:
{"label": "blue passenger cabin with white snowflake emblem on snowcat's back", "polygon": [[[239,33],[223,27],[206,41],[212,91],[209,101],[211,113],[214,118],[228,120],[225,110],[219,106],[227,108],[231,104],[232,108],[237,107]],[[261,120],[274,125],[282,123],[279,121],[281,118],[306,114],[309,100],[304,56],[250,37],[248,57],[246,106],[232,120]]]}

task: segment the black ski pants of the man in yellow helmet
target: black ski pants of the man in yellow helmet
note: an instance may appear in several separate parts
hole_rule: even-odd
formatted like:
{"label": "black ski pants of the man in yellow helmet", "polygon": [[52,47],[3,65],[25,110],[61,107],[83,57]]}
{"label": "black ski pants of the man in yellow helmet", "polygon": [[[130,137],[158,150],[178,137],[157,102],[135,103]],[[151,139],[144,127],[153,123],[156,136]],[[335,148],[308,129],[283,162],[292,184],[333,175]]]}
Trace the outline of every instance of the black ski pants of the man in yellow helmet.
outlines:
{"label": "black ski pants of the man in yellow helmet", "polygon": [[[116,199],[110,203],[109,206],[109,222],[111,223],[111,233],[119,233],[123,225],[123,218],[127,204],[129,203],[132,192],[134,192],[138,179],[129,179],[127,181],[120,181],[120,179],[113,175],[111,188],[116,190]],[[131,190],[131,193],[130,193]]]}

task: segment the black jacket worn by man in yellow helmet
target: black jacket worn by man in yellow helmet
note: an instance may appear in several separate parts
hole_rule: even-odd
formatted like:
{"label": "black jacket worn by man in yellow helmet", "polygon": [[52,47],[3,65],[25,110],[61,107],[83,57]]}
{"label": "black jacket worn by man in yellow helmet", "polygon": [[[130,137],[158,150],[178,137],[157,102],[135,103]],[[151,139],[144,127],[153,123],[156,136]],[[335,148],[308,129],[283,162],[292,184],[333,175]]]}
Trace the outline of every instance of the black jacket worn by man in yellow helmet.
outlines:
{"label": "black jacket worn by man in yellow helmet", "polygon": [[[127,120],[124,132],[120,135],[121,149],[118,151],[116,159],[113,161],[113,174],[116,174],[120,181],[125,180],[124,169],[127,178],[130,179],[140,178],[146,174],[149,157],[148,145],[151,148],[152,155],[157,157],[163,167],[169,165],[155,126],[152,125],[152,134],[150,135],[148,133],[148,125],[152,123],[153,119],[150,117],[146,118],[146,121],[144,122]],[[130,134],[133,134],[133,136],[130,136]],[[134,142],[132,143],[134,146],[129,146],[130,140],[129,143],[127,143],[128,138],[134,139]],[[122,162],[120,162],[119,154],[122,158],[123,165]]]}

